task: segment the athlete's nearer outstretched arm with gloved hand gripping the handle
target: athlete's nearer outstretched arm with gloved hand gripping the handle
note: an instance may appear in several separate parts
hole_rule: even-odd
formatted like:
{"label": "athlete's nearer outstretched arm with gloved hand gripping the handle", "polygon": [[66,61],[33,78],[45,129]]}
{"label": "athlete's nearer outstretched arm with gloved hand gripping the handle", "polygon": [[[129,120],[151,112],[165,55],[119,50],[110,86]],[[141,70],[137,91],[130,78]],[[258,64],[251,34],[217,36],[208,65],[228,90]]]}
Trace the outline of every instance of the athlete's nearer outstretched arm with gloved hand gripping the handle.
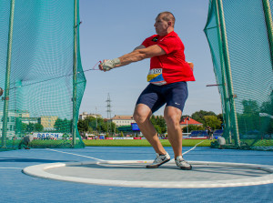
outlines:
{"label": "athlete's nearer outstretched arm with gloved hand gripping the handle", "polygon": [[145,47],[141,45],[137,46],[135,50],[129,54],[120,56],[112,60],[104,60],[104,62],[99,65],[99,69],[103,71],[108,71],[114,67],[126,66],[133,62],[161,55],[166,55],[166,52],[160,46],[155,45]]}

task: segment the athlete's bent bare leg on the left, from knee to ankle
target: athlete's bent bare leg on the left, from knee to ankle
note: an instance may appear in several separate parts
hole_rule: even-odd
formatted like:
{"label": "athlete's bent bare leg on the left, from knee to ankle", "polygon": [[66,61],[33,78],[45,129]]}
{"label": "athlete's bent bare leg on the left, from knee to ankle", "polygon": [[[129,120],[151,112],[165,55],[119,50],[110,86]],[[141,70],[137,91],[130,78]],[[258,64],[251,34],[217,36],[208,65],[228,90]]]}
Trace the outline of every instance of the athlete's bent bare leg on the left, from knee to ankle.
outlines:
{"label": "athlete's bent bare leg on the left, from knee to ankle", "polygon": [[150,121],[151,116],[152,111],[149,107],[147,107],[147,105],[136,105],[134,119],[136,120],[140,131],[158,154],[166,154],[164,147],[157,137],[157,130]]}

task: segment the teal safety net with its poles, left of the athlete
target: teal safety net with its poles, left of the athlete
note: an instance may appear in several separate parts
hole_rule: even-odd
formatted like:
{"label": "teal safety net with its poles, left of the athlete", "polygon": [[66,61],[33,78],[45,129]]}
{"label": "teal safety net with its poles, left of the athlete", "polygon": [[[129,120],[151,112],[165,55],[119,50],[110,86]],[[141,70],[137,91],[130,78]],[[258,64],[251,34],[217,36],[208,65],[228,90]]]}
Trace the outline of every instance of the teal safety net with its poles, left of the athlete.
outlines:
{"label": "teal safety net with its poles, left of the athlete", "polygon": [[76,0],[0,1],[0,145],[84,147]]}

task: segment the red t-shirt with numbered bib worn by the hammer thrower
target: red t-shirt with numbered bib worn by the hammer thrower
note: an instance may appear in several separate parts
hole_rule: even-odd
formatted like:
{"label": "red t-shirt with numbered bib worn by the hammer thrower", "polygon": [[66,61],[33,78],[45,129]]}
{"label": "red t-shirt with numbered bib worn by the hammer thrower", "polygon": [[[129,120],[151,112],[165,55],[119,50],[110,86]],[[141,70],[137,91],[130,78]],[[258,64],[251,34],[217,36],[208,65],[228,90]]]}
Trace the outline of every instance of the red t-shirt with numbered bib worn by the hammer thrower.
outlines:
{"label": "red t-shirt with numbered bib worn by the hammer thrower", "polygon": [[142,45],[146,47],[157,45],[166,52],[166,55],[151,57],[148,82],[162,86],[196,80],[193,71],[185,61],[185,47],[177,33],[171,32],[167,36],[150,36]]}

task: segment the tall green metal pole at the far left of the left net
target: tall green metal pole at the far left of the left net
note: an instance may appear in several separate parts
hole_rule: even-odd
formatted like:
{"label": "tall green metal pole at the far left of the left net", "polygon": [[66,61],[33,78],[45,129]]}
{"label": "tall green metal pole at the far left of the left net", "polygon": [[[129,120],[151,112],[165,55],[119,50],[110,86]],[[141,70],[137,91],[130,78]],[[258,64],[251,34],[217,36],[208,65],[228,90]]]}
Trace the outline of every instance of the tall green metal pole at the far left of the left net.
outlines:
{"label": "tall green metal pole at the far left of the left net", "polygon": [[11,71],[13,32],[14,32],[14,16],[15,16],[15,0],[11,0],[11,3],[10,3],[10,17],[9,17],[8,44],[7,44],[7,56],[6,56],[6,70],[5,70],[5,97],[3,98],[4,99],[3,129],[2,129],[2,147],[3,148],[6,147],[10,71]]}

